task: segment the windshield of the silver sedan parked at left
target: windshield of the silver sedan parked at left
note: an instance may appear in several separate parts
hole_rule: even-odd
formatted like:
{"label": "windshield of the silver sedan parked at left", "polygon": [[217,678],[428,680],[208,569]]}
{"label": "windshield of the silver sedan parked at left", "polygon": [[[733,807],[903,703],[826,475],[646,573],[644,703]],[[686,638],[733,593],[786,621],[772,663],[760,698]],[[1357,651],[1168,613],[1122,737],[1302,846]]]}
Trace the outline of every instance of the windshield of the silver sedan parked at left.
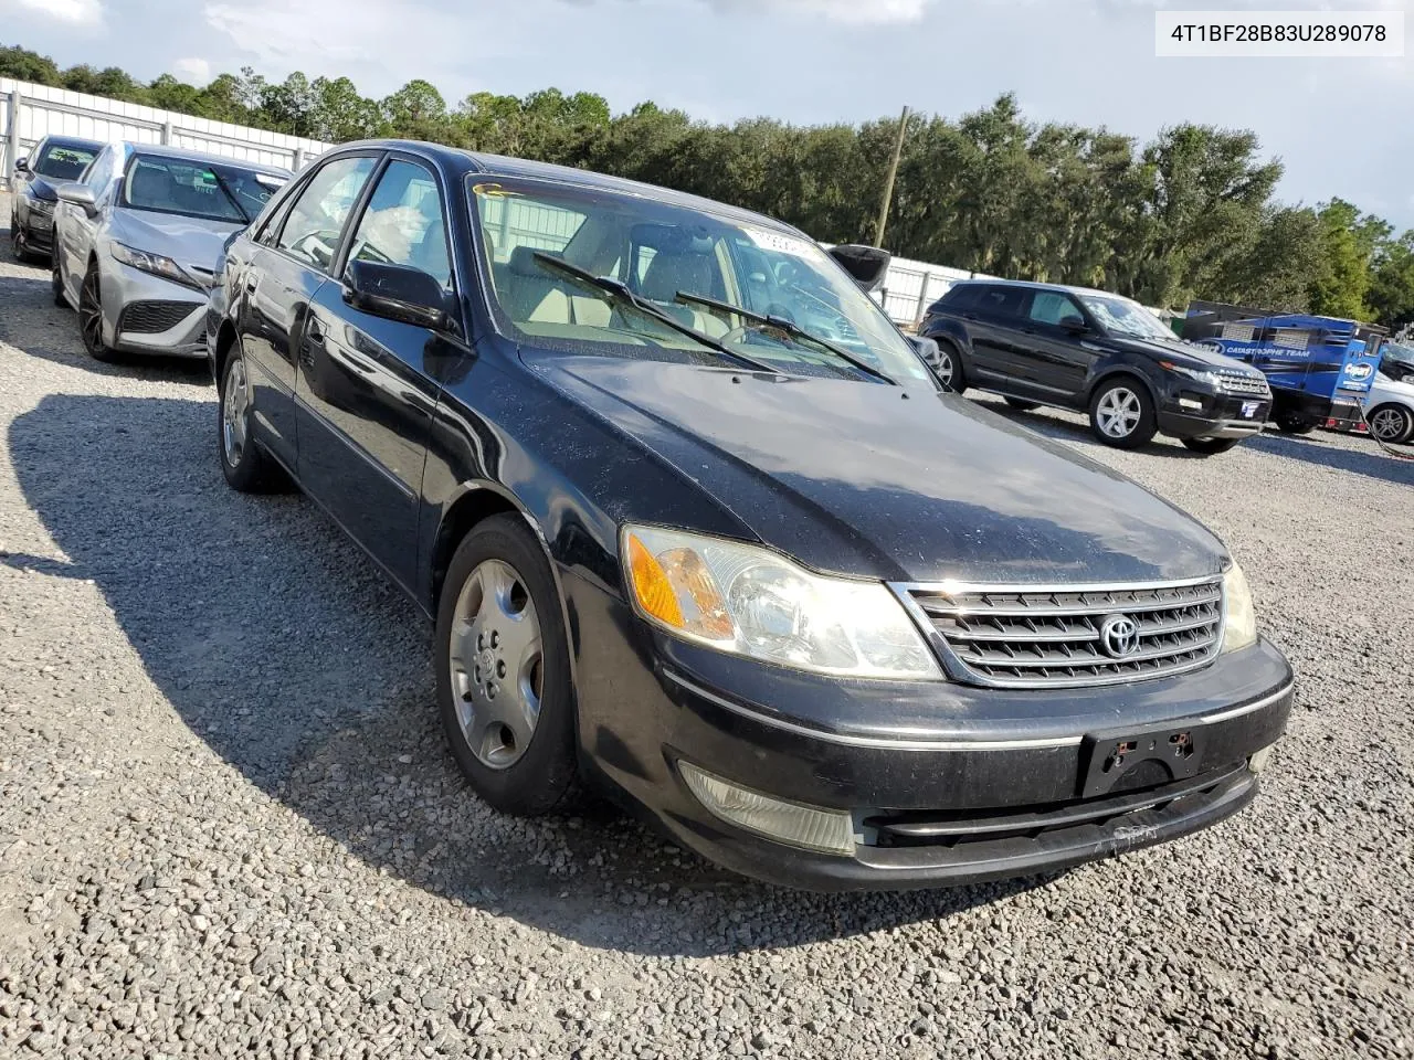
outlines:
{"label": "windshield of the silver sedan parked at left", "polygon": [[123,178],[123,205],[249,225],[284,179],[188,158],[137,155]]}

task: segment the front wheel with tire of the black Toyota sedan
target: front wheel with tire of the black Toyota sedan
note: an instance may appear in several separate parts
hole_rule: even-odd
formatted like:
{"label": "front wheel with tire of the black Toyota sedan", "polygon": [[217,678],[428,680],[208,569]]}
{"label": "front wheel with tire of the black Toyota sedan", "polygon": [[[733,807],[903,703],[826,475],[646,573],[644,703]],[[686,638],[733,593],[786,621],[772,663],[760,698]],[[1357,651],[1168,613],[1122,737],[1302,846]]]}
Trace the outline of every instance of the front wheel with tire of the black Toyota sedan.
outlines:
{"label": "front wheel with tire of the black Toyota sedan", "polygon": [[568,639],[544,553],[516,516],[478,523],[457,547],[433,652],[447,742],[477,794],[518,817],[568,808],[578,790]]}

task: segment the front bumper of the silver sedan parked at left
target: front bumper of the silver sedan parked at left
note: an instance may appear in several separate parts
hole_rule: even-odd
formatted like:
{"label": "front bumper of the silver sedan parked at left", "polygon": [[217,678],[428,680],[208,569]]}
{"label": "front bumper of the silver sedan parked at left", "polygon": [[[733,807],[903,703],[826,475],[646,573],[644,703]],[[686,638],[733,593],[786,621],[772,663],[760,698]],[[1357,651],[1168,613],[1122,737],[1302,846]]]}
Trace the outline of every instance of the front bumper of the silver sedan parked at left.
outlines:
{"label": "front bumper of the silver sedan parked at left", "polygon": [[109,261],[102,276],[106,341],[129,353],[206,356],[206,298],[201,291]]}

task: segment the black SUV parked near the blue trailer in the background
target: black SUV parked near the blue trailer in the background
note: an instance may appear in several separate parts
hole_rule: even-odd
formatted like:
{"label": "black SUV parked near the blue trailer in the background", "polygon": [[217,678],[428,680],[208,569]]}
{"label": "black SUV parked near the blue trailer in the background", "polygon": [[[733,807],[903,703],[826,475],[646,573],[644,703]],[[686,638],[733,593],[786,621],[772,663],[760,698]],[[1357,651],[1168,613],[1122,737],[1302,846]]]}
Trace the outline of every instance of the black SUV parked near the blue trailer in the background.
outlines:
{"label": "black SUV parked near the blue trailer in the background", "polygon": [[1260,372],[1184,342],[1135,301],[1055,284],[971,280],[928,311],[945,386],[1089,411],[1106,445],[1135,449],[1155,434],[1200,454],[1261,431],[1271,389]]}

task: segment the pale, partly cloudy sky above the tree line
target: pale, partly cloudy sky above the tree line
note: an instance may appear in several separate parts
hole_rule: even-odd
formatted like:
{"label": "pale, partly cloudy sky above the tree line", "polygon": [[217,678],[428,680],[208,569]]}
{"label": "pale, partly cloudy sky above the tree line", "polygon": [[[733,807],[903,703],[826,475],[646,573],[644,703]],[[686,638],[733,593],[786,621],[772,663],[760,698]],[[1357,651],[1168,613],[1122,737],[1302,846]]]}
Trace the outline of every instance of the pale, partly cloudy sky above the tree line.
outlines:
{"label": "pale, partly cloudy sky above the tree line", "polygon": [[427,78],[448,103],[486,89],[587,89],[694,117],[956,117],[1015,92],[1028,117],[1140,139],[1193,120],[1253,129],[1290,202],[1339,195],[1414,228],[1414,47],[1401,59],[1159,59],[1154,8],[1414,0],[0,0],[0,42],[61,66],[188,81],[252,65],[348,75],[382,96]]}

